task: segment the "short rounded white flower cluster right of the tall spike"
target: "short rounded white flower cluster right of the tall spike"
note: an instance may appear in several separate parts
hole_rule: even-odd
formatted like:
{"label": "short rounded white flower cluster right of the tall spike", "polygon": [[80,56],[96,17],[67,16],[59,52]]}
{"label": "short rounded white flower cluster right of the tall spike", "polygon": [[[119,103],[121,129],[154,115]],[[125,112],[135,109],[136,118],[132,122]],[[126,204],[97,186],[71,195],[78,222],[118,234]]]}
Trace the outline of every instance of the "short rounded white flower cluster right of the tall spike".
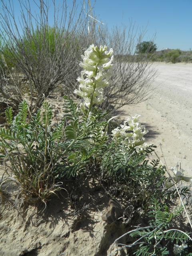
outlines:
{"label": "short rounded white flower cluster right of the tall spike", "polygon": [[[144,150],[148,144],[144,143],[145,139],[143,136],[148,133],[144,125],[141,125],[139,122],[139,117],[142,115],[136,114],[133,117],[126,118],[124,125],[120,125],[121,128],[115,128],[112,130],[112,136],[116,140],[117,143],[119,137],[124,137],[124,141],[122,144],[126,145],[128,148],[135,148],[137,152],[140,150]],[[127,125],[128,124],[128,125]]]}

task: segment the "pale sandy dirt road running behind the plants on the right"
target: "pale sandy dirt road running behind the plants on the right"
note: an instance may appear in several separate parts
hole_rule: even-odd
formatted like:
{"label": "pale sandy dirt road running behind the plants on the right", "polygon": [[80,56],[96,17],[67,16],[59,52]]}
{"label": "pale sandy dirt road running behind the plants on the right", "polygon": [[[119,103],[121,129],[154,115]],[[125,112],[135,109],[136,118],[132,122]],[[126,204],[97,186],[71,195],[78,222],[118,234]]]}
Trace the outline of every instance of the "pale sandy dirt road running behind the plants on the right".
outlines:
{"label": "pale sandy dirt road running behind the plants on the right", "polygon": [[162,163],[168,168],[181,163],[185,176],[192,176],[192,64],[158,62],[154,68],[159,75],[152,98],[122,111],[142,114],[140,122],[149,130],[146,141],[157,146]]}

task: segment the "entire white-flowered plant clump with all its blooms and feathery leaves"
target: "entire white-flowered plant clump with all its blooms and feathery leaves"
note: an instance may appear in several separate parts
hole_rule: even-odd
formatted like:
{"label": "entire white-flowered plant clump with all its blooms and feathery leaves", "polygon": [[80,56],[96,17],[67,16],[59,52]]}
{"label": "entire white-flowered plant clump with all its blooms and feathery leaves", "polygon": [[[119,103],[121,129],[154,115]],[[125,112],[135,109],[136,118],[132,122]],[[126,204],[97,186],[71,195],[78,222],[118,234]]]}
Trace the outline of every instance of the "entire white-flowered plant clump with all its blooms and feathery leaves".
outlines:
{"label": "entire white-flowered plant clump with all its blooms and feathery leaves", "polygon": [[[108,112],[94,104],[106,100],[104,88],[109,86],[113,74],[113,50],[92,44],[82,58],[83,71],[74,93],[83,101],[78,108],[72,99],[64,97],[64,116],[59,123],[51,124],[52,109],[46,101],[42,112],[38,110],[32,116],[26,101],[20,103],[14,118],[12,109],[6,110],[9,126],[0,128],[0,159],[7,179],[18,185],[17,200],[40,200],[46,204],[52,194],[66,189],[62,181],[70,178],[81,184],[87,178],[128,202],[123,223],[131,230],[123,235],[128,239],[120,249],[123,246],[131,255],[166,255],[167,245],[172,241],[174,245],[170,248],[174,253],[186,255],[192,239],[188,233],[170,228],[184,206],[172,212],[168,200],[175,198],[178,190],[186,195],[186,187],[171,188],[191,178],[182,176],[183,171],[177,171],[176,166],[174,177],[167,179],[166,167],[159,165],[159,160],[146,159],[156,147],[145,143],[148,131],[139,122],[139,115],[128,117],[107,134]],[[0,186],[0,195],[4,197],[4,193]],[[148,226],[137,226],[137,220],[144,216]]]}

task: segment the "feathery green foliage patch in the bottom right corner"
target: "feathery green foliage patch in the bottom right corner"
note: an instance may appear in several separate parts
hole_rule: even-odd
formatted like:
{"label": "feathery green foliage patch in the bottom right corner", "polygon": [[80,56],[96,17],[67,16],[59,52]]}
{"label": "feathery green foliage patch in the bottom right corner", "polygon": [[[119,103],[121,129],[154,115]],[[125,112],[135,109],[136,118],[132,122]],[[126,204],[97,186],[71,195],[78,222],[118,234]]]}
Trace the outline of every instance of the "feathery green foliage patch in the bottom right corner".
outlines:
{"label": "feathery green foliage patch in the bottom right corner", "polygon": [[[135,240],[133,243],[129,243],[127,247],[131,250],[132,246],[136,246],[136,249],[132,249],[136,256],[169,255],[170,250],[175,254],[180,254],[182,250],[188,248],[185,243],[190,236],[187,232],[169,228],[169,226],[182,213],[183,207],[179,206],[174,211],[170,211],[165,202],[161,202],[159,198],[154,196],[150,198],[150,204],[148,211],[150,225],[143,228],[138,226],[128,232]],[[170,246],[170,241],[176,241],[177,244],[174,244],[174,248]]]}

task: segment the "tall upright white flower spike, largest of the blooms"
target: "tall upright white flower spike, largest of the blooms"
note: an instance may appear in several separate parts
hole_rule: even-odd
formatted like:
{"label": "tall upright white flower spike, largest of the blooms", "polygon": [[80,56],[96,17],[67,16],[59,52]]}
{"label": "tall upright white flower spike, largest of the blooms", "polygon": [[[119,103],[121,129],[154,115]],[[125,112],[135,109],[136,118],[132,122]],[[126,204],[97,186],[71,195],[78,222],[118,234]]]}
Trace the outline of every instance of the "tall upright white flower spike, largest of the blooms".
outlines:
{"label": "tall upright white flower spike, largest of the blooms", "polygon": [[[90,104],[101,104],[106,97],[104,97],[103,88],[109,85],[109,77],[112,76],[114,60],[113,50],[106,51],[107,46],[97,46],[93,44],[82,55],[83,62],[80,66],[84,68],[81,72],[81,77],[78,77],[80,82],[78,90],[74,93],[84,98],[84,102],[80,104],[81,110],[86,113],[86,107]],[[111,57],[111,58],[110,58]],[[106,71],[108,68],[110,70]]]}

